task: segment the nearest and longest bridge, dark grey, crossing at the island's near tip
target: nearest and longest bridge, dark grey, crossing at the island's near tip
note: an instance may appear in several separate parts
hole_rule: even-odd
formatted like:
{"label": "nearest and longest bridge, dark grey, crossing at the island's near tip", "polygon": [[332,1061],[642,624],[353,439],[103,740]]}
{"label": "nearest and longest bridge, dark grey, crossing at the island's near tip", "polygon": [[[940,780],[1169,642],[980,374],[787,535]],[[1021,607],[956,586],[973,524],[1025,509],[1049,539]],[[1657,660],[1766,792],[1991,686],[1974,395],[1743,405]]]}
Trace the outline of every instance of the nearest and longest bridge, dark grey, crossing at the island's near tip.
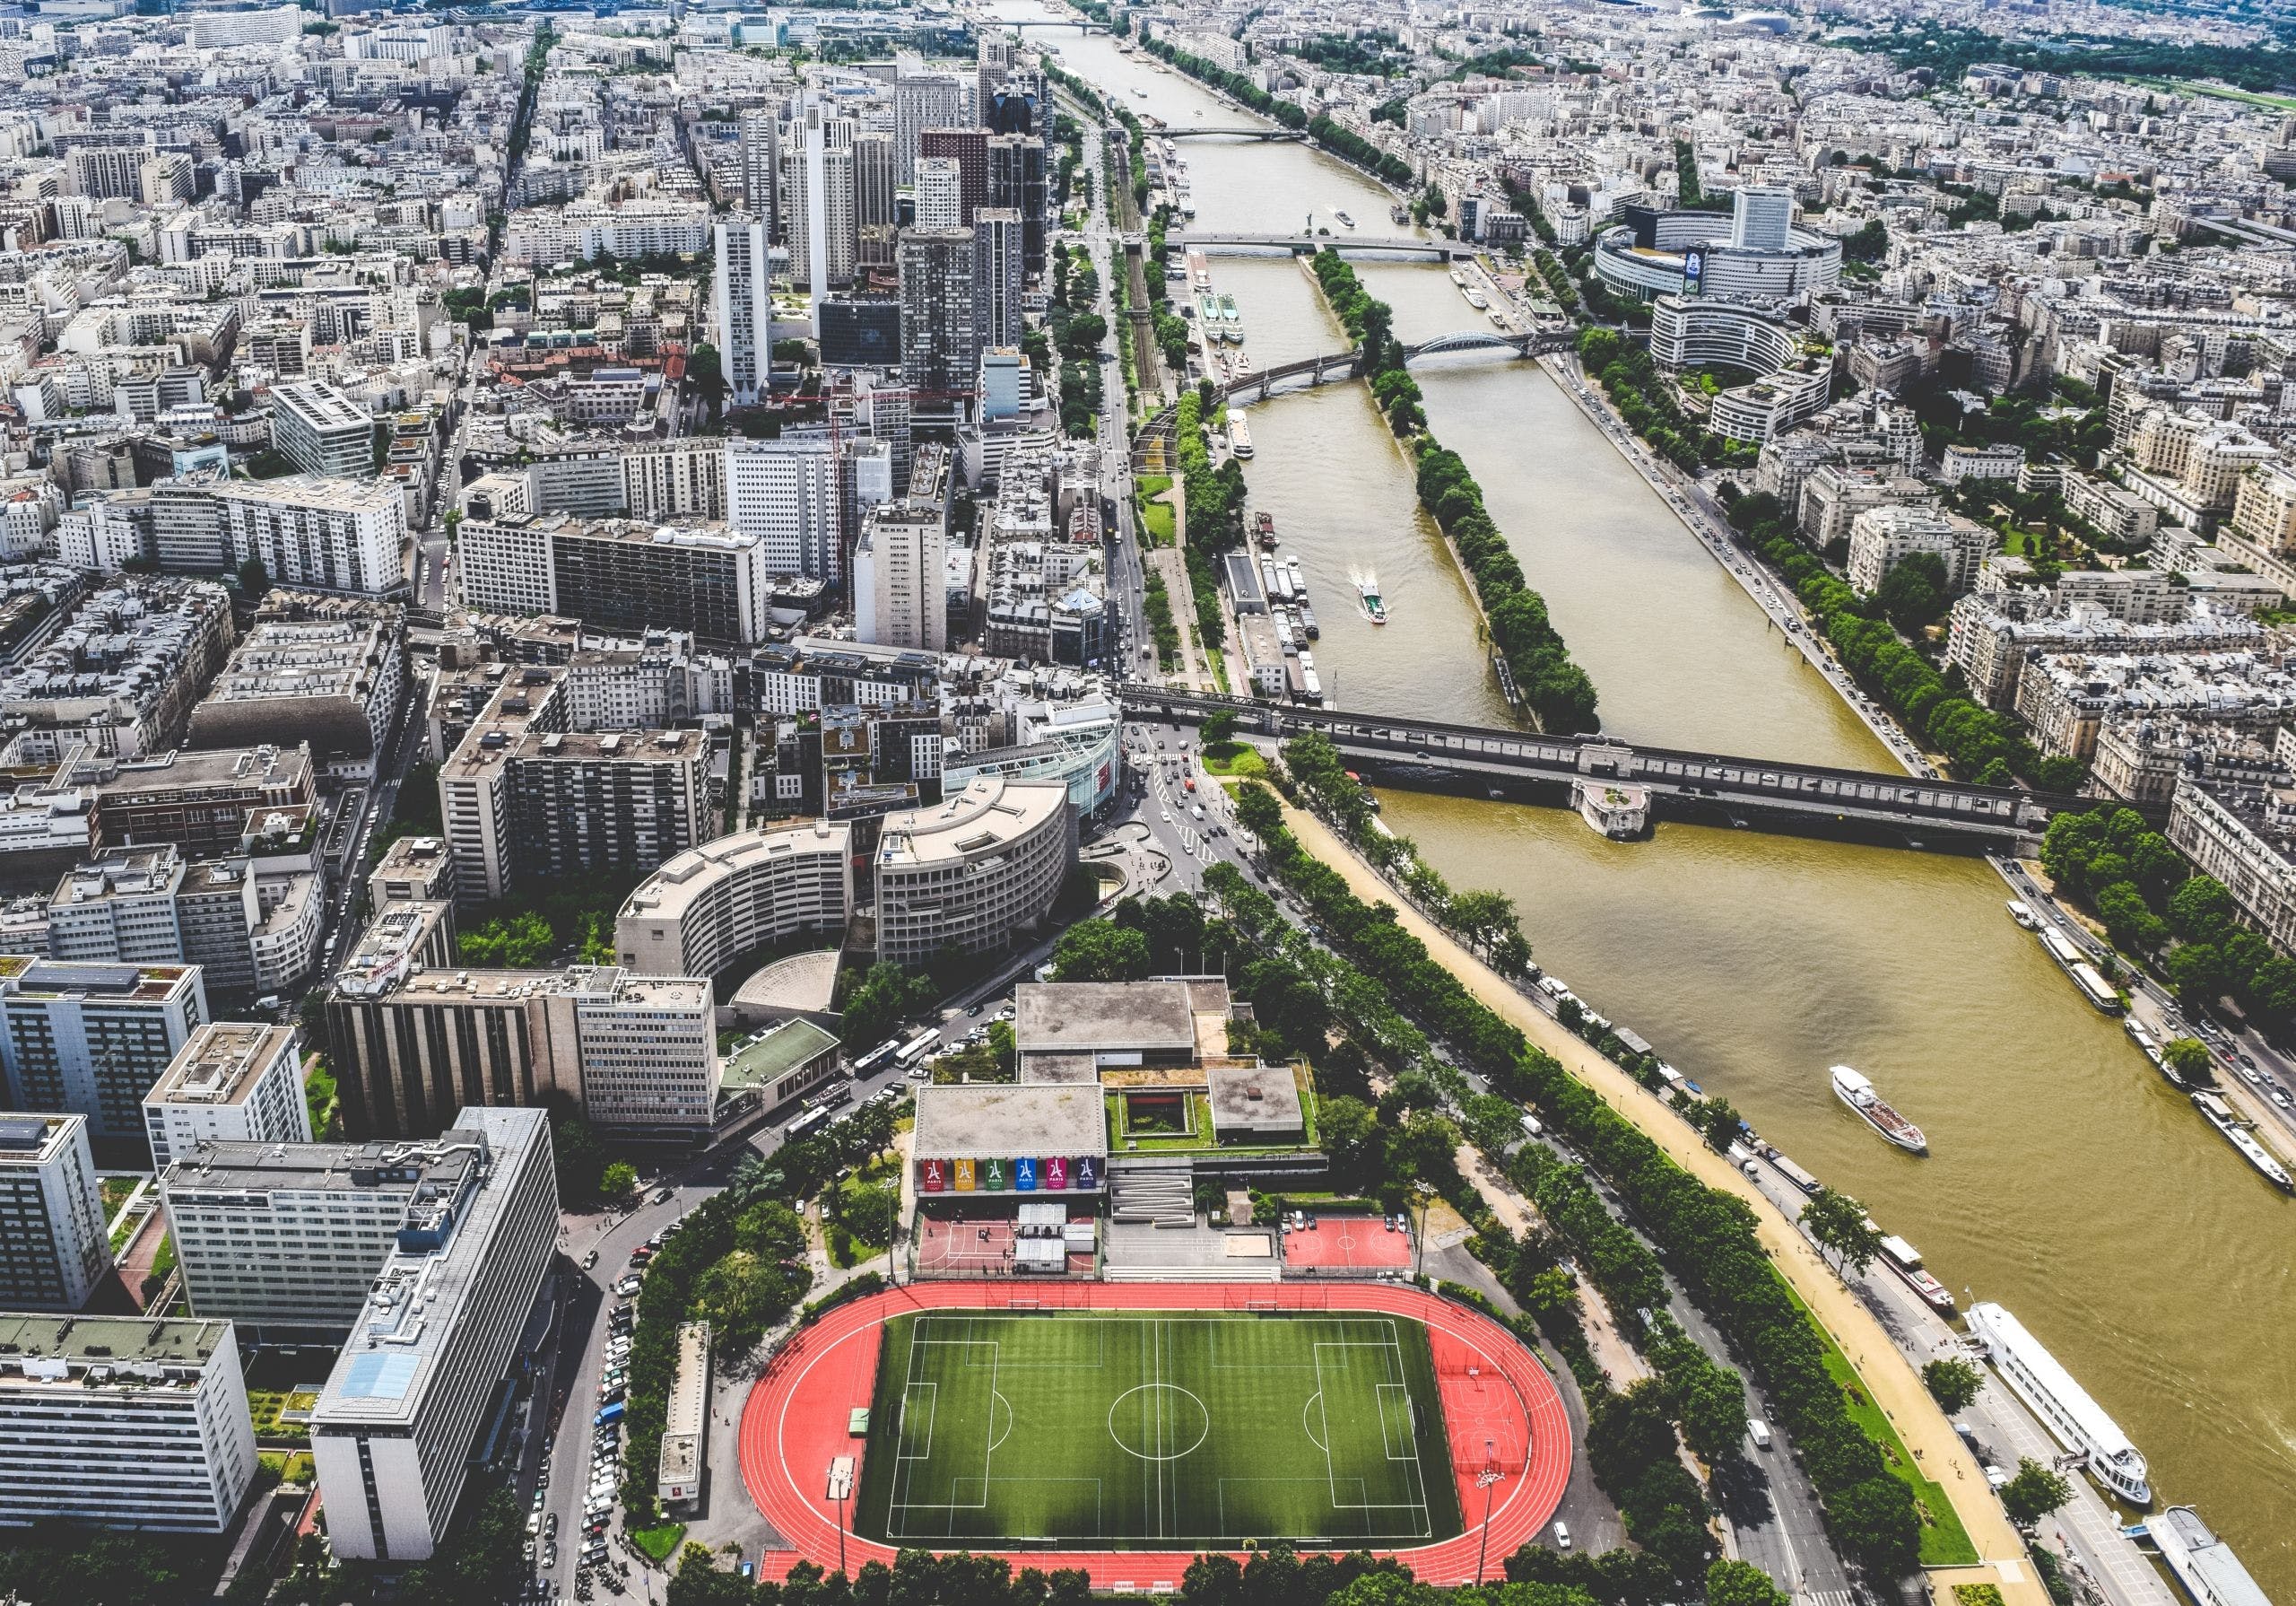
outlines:
{"label": "nearest and longest bridge, dark grey, crossing at the island's near tip", "polygon": [[1125,685],[1123,701],[1125,708],[1189,724],[1226,710],[1238,717],[1238,731],[1270,738],[1322,731],[1350,765],[1378,770],[1401,783],[1465,779],[1515,795],[1525,783],[1616,781],[1649,788],[1653,806],[1671,802],[1674,809],[1722,811],[1786,827],[1855,823],[2014,841],[2037,836],[2062,809],[2096,806],[2094,797],[2055,797],[2009,786],[1688,754],[1609,735],[1534,735],[1433,719],[1380,719],[1139,682]]}

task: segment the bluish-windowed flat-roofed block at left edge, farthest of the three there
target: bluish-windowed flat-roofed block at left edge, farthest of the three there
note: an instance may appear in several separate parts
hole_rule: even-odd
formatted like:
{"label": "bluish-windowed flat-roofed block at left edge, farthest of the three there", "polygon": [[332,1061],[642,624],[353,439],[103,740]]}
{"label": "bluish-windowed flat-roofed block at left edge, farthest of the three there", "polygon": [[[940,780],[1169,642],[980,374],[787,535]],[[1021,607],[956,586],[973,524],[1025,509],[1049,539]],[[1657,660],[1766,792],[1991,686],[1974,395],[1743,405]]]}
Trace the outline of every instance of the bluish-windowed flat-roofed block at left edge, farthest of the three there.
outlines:
{"label": "bluish-windowed flat-roofed block at left edge, farthest of the three there", "polygon": [[145,1094],[204,1020],[197,965],[0,958],[9,1103],[85,1114],[92,1137],[145,1135]]}

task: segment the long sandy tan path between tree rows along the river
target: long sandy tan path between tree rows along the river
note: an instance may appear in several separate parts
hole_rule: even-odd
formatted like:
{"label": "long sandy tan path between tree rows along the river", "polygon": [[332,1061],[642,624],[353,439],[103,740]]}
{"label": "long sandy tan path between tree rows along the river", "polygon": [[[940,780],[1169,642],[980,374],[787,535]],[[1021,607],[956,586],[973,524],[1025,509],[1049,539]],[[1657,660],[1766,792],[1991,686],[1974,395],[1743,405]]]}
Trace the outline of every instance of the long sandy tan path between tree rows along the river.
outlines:
{"label": "long sandy tan path between tree rows along the river", "polygon": [[[1366,903],[1394,903],[1389,885],[1355,855],[1320,818],[1286,806],[1283,825],[1320,864],[1329,866],[1348,889]],[[1467,951],[1456,937],[1412,908],[1396,910],[1396,924],[1426,944],[1428,956],[1449,970],[1469,995],[1499,1020],[1522,1032],[1541,1052],[1554,1057],[1582,1087],[1626,1117],[1676,1167],[1692,1179],[1740,1199],[1754,1220],[1756,1238],[1770,1264],[1793,1294],[1809,1307],[1821,1330],[1855,1367],[1867,1397],[1883,1411],[1899,1438],[1919,1461],[1924,1475],[1952,1503],[1954,1516],[1984,1558],[1981,1581],[2002,1590],[2011,1606],[2046,1606],[2048,1592],[2025,1565],[2025,1544],[1993,1498],[1984,1470],[1931,1402],[1915,1367],[1896,1351],[1887,1330],[1835,1277],[1832,1268],[1802,1238],[1800,1229],[1775,1209],[1720,1153],[1708,1149],[1665,1103],[1616,1064],[1570,1034],[1559,1020],[1531,1006],[1511,983]],[[1956,1569],[1956,1583],[1979,1572]],[[1938,1576],[1942,1592],[1947,1574]],[[1949,1595],[1942,1595],[1949,1599]]]}

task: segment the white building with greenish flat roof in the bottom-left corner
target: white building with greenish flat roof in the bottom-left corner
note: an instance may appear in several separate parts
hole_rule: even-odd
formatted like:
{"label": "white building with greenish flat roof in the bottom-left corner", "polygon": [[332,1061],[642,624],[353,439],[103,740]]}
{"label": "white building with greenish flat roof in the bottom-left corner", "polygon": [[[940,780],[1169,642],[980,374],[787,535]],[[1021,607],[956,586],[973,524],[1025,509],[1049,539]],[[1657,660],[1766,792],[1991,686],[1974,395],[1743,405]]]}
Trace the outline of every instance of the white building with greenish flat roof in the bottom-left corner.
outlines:
{"label": "white building with greenish flat roof in the bottom-left corner", "polygon": [[230,1321],[0,1317],[0,1523],[232,1526],[255,1422]]}

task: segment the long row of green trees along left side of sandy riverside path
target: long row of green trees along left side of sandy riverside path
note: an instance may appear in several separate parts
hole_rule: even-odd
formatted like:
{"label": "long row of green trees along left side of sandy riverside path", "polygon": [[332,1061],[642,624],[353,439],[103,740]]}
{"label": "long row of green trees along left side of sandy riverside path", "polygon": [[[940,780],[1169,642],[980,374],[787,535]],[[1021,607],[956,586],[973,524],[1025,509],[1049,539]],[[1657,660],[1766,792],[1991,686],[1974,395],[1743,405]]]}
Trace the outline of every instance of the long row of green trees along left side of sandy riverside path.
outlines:
{"label": "long row of green trees along left side of sandy riverside path", "polygon": [[[1247,795],[1256,790],[1247,783]],[[1240,804],[1238,818],[1249,811],[1258,820],[1247,825],[1265,843],[1270,866],[1327,940],[1387,997],[1410,999],[1412,1013],[1490,1078],[1497,1094],[1536,1105],[1612,1181],[1683,1289],[1763,1383],[1841,1549],[1876,1572],[1910,1572],[1922,1532],[1913,1489],[1892,1477],[1880,1447],[1848,1415],[1818,1335],[1761,1248],[1752,1209],[1674,1165],[1552,1055],[1474,999],[1426,944],[1396,926],[1394,910],[1366,905],[1332,866],[1302,850],[1281,811],[1270,818],[1272,804],[1272,797]]]}

